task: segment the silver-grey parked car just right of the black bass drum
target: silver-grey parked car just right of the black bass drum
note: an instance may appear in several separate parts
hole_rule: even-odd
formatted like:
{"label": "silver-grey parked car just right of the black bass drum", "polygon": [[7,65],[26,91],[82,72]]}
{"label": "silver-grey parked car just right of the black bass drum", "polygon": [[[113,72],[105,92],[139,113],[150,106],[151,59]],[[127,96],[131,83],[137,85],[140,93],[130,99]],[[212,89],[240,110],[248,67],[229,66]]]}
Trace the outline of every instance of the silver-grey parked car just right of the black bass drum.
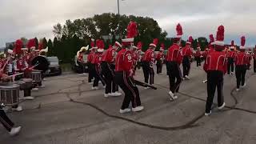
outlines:
{"label": "silver-grey parked car just right of the black bass drum", "polygon": [[50,62],[49,70],[46,71],[46,75],[60,75],[62,74],[62,68],[59,65],[58,57],[47,57]]}

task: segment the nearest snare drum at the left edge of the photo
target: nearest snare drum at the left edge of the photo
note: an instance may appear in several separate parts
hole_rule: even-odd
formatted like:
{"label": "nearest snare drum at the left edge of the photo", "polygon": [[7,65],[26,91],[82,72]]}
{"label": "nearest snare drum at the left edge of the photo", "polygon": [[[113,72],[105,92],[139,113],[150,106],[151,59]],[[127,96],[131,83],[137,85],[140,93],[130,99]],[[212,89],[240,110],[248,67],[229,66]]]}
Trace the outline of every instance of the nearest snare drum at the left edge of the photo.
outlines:
{"label": "nearest snare drum at the left edge of the photo", "polygon": [[7,86],[0,86],[0,103],[5,105],[18,104],[19,86],[17,84],[10,84]]}

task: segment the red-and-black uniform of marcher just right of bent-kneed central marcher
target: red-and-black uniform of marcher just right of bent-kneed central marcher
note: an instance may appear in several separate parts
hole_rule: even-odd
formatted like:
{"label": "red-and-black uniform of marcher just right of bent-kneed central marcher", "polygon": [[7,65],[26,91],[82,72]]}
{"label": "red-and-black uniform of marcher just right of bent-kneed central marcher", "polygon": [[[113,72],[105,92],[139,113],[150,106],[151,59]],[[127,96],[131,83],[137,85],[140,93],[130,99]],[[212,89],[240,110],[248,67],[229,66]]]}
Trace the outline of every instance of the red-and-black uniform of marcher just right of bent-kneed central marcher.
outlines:
{"label": "red-and-black uniform of marcher just right of bent-kneed central marcher", "polygon": [[145,82],[148,83],[150,78],[150,85],[154,84],[153,64],[154,64],[154,50],[148,49],[146,50],[142,58],[142,69],[143,69]]}

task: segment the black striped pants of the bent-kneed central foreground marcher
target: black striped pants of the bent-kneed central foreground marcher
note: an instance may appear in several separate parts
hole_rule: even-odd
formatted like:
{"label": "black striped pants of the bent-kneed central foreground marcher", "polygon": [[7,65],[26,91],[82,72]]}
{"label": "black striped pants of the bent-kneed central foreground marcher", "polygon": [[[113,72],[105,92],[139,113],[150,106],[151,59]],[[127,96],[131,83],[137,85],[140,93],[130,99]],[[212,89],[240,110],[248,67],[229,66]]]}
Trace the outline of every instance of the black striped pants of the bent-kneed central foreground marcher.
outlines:
{"label": "black striped pants of the bent-kneed central foreground marcher", "polygon": [[133,78],[128,77],[126,72],[119,71],[115,73],[115,81],[125,93],[125,98],[123,99],[121,107],[122,110],[128,108],[130,102],[133,107],[141,106],[138,87],[134,84]]}

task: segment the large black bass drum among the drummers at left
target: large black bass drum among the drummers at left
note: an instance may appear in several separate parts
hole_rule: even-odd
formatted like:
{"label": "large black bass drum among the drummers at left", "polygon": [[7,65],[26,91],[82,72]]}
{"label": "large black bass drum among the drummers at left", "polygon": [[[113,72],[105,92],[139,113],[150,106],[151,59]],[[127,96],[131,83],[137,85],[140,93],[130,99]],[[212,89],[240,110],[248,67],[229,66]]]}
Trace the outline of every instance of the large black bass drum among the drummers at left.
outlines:
{"label": "large black bass drum among the drummers at left", "polygon": [[50,62],[48,61],[47,57],[42,55],[34,57],[31,61],[31,64],[32,66],[35,66],[34,70],[41,70],[42,72],[46,72],[46,70],[49,70],[50,66]]}

